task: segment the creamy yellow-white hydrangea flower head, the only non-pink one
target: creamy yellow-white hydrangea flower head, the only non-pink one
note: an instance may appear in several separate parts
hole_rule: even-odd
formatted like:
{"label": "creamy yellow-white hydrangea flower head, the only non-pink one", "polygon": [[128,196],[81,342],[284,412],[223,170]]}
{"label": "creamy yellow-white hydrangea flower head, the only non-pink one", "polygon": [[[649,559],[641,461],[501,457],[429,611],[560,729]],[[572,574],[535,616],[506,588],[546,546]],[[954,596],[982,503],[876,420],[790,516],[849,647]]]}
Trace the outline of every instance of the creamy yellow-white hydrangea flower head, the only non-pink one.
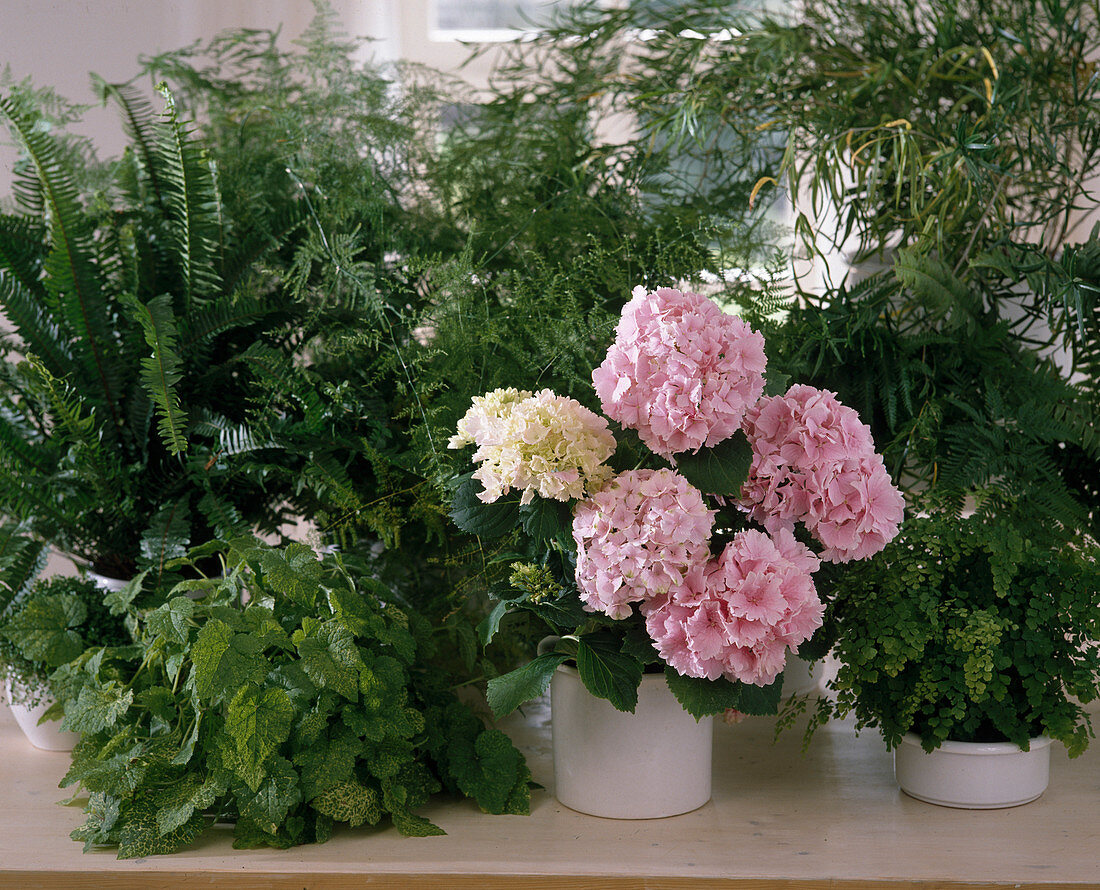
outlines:
{"label": "creamy yellow-white hydrangea flower head, the only non-pink one", "polygon": [[492,503],[512,490],[521,504],[535,495],[556,501],[584,497],[612,475],[605,461],[615,453],[607,419],[549,389],[531,395],[497,389],[474,398],[459,421],[450,448],[476,444],[477,495]]}

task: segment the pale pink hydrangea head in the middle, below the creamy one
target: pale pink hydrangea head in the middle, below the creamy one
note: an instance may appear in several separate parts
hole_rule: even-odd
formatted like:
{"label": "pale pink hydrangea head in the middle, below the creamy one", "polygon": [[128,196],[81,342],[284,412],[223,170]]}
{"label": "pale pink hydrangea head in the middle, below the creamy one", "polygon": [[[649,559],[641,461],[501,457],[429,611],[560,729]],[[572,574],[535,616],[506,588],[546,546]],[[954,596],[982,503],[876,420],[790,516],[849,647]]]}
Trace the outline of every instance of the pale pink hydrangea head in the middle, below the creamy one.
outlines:
{"label": "pale pink hydrangea head in the middle, below the creamy one", "polygon": [[632,470],[612,479],[573,510],[576,583],[590,612],[613,618],[630,603],[683,584],[706,561],[714,510],[672,470]]}

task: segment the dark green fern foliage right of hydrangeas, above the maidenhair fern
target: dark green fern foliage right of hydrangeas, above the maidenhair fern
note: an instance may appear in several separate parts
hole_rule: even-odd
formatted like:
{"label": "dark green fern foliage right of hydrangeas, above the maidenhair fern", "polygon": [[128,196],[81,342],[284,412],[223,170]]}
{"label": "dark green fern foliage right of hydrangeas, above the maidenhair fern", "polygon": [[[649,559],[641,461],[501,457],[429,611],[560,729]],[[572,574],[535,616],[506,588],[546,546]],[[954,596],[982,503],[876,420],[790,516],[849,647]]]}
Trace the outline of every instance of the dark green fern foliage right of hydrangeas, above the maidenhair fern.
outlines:
{"label": "dark green fern foliage right of hydrangeas, above the maidenhair fern", "polygon": [[[1028,262],[1016,263],[1025,275]],[[1009,298],[1007,277],[976,285],[908,252],[895,270],[792,309],[769,330],[784,367],[858,408],[908,491],[935,487],[956,509],[1026,501],[1053,524],[1093,524],[1098,403],[1087,377],[989,308],[982,289]]]}

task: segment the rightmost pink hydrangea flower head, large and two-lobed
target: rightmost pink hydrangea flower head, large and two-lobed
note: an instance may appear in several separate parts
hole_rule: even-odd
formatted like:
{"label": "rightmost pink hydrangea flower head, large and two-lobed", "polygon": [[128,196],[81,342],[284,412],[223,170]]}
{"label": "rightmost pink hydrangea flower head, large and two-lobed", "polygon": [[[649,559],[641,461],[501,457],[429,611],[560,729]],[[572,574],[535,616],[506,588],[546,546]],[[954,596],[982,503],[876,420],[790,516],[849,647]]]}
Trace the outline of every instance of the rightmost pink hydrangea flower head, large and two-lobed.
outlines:
{"label": "rightmost pink hydrangea flower head, large and two-lobed", "polygon": [[745,416],[752,464],[741,504],[770,531],[803,523],[847,562],[877,553],[898,534],[904,499],[875,451],[871,430],[835,393],[794,385]]}

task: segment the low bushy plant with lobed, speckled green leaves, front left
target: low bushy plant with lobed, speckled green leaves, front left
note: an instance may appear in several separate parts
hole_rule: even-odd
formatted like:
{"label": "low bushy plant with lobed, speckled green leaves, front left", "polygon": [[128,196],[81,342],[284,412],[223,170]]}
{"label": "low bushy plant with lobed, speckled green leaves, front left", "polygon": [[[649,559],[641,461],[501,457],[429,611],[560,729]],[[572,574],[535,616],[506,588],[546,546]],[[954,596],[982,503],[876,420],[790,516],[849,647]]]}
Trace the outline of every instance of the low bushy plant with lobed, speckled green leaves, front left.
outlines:
{"label": "low bushy plant with lobed, speckled green leaves, front left", "polygon": [[[431,667],[431,629],[339,557],[252,538],[211,543],[220,578],[182,582],[150,612],[116,598],[131,646],[95,647],[55,674],[82,733],[63,787],[90,796],[73,836],[120,858],[172,853],[219,821],[234,846],[326,840],[336,823],[418,815],[446,789],[526,813],[529,773]],[[193,598],[198,597],[198,598]]]}

